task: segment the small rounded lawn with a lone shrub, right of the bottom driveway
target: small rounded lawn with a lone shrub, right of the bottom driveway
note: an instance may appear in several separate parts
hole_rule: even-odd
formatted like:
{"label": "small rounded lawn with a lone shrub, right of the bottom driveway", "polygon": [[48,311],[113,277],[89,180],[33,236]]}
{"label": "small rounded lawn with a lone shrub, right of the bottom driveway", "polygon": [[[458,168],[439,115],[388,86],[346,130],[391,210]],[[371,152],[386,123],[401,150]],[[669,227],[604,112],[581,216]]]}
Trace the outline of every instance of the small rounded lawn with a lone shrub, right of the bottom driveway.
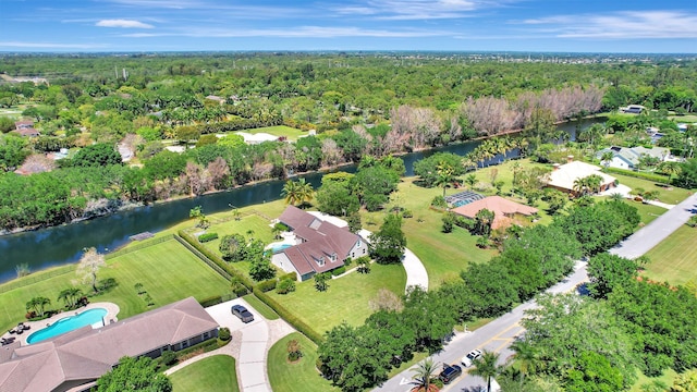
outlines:
{"label": "small rounded lawn with a lone shrub, right of the bottom driveway", "polygon": [[[331,289],[330,289],[331,290]],[[288,362],[288,342],[297,340],[303,357],[296,363]],[[267,359],[269,381],[273,392],[295,392],[302,385],[304,392],[339,391],[323,379],[317,369],[317,346],[305,335],[294,332],[278,341]]]}

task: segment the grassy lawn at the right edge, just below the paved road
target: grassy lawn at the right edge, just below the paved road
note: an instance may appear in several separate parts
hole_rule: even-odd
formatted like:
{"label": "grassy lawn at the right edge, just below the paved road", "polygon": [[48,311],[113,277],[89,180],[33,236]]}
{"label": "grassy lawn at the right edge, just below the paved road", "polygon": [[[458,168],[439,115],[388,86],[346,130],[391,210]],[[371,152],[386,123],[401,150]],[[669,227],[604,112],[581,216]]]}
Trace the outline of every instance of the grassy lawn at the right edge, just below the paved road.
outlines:
{"label": "grassy lawn at the right edge, just below the paved road", "polygon": [[644,275],[659,282],[680,285],[697,280],[697,229],[683,225],[647,256],[651,264],[646,266]]}

